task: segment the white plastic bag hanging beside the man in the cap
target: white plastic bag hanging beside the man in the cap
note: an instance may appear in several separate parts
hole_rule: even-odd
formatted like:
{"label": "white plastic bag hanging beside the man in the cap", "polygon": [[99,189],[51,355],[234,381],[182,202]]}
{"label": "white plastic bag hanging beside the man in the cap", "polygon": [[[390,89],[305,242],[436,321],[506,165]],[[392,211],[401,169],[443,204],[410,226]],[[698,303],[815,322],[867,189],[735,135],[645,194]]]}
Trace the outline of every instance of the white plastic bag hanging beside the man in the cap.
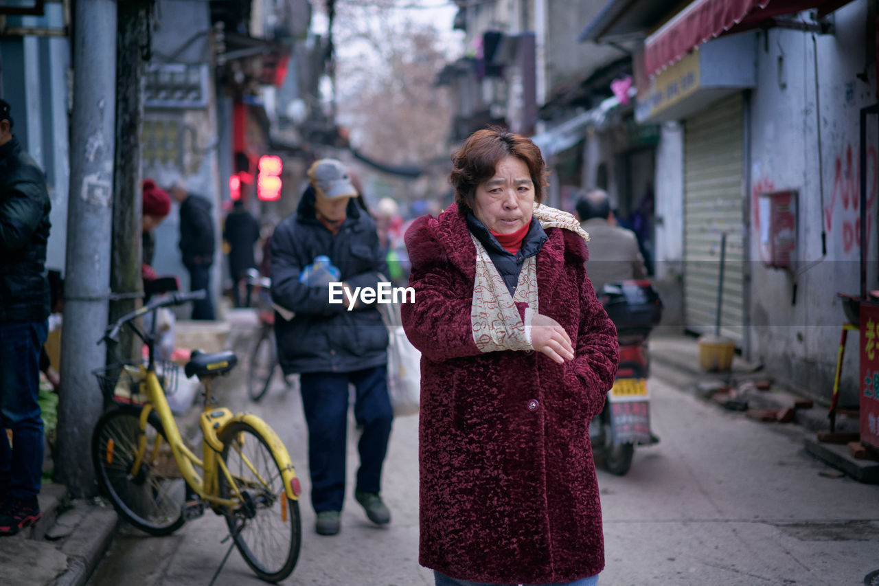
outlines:
{"label": "white plastic bag hanging beside the man in the cap", "polygon": [[394,415],[414,415],[418,413],[421,396],[421,352],[412,346],[400,323],[396,308],[389,304],[381,305],[381,311],[388,326],[388,394]]}

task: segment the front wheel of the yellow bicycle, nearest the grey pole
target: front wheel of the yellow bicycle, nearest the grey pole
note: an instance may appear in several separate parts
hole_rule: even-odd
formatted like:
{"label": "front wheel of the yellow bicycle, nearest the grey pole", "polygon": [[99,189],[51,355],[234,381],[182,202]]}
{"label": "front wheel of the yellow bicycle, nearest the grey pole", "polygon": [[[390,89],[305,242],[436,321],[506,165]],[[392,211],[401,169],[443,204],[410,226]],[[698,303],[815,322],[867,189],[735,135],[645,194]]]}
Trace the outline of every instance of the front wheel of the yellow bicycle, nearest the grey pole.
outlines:
{"label": "front wheel of the yellow bicycle, nearest the grey pole", "polygon": [[142,435],[141,410],[126,406],[103,414],[91,435],[91,459],[98,485],[121,516],[142,531],[168,535],[184,523],[186,484],[155,413],[143,431],[142,463],[132,470]]}

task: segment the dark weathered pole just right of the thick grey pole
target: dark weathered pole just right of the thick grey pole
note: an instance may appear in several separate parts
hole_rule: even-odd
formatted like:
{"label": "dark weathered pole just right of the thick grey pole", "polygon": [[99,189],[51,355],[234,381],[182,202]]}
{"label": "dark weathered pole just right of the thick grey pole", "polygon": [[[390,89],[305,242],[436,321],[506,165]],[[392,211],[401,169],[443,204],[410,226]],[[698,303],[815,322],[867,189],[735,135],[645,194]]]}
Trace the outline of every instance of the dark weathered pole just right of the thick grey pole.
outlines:
{"label": "dark weathered pole just right of the thick grey pole", "polygon": [[[113,179],[113,248],[110,289],[120,298],[110,302],[110,323],[139,305],[141,276],[141,128],[143,63],[149,60],[149,6],[152,0],[119,5],[116,42],[116,165]],[[136,359],[141,341],[130,329],[120,333],[116,348],[107,348],[107,363]]]}

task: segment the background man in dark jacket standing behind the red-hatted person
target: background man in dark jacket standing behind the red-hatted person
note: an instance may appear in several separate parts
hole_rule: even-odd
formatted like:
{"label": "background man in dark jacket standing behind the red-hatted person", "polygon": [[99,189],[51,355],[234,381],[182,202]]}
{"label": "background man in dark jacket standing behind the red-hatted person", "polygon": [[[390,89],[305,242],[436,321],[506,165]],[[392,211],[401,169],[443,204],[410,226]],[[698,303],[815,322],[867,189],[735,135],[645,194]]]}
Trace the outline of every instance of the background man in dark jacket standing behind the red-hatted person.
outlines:
{"label": "background man in dark jacket standing behind the red-hatted person", "polygon": [[214,218],[205,198],[189,194],[182,181],[169,190],[180,204],[180,254],[189,271],[189,290],[205,289],[207,297],[193,302],[193,319],[214,319],[211,265],[214,264]]}

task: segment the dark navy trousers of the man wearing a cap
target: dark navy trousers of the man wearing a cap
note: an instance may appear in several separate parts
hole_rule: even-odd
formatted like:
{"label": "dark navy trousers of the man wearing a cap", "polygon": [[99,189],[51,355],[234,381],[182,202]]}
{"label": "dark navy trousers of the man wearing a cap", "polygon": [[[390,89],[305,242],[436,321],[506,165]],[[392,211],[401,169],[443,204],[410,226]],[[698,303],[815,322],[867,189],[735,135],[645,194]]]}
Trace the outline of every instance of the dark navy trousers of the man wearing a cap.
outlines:
{"label": "dark navy trousers of the man wearing a cap", "polygon": [[362,427],[357,489],[381,492],[381,465],[388,452],[394,412],[388,398],[386,366],[354,372],[302,374],[300,387],[309,425],[311,504],[316,513],[342,510],[345,501],[345,452],[348,383],[355,389],[354,420]]}

